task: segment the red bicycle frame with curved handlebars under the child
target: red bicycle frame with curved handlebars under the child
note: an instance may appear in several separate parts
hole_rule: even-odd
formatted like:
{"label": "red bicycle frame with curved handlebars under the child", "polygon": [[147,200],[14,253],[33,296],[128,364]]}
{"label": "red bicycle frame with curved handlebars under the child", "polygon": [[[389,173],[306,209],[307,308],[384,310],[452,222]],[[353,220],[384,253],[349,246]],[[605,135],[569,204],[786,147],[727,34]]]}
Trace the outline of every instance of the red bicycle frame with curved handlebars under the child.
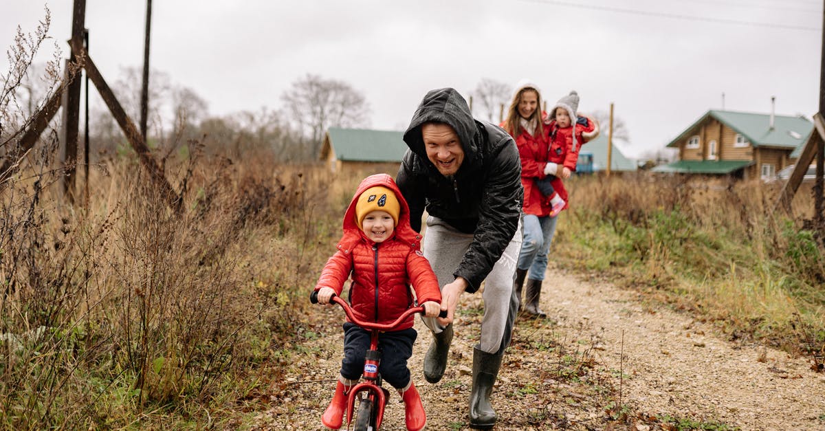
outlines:
{"label": "red bicycle frame with curved handlebars under the child", "polygon": [[[318,291],[313,291],[312,295],[309,296],[309,301],[313,304],[318,303]],[[352,309],[347,301],[341,299],[340,296],[333,295],[332,298],[329,300],[331,303],[335,302],[337,305],[341,305],[341,308],[347,314],[349,320],[363,329],[367,329],[370,331],[370,350],[366,352],[365,361],[364,361],[364,381],[358,383],[356,386],[352,386],[350,389],[350,393],[347,396],[347,424],[352,422],[352,414],[355,410],[355,403],[356,399],[359,398],[359,394],[362,392],[364,396],[372,401],[373,408],[375,409],[374,412],[371,412],[372,415],[375,417],[375,421],[373,422],[374,428],[380,429],[381,428],[381,421],[384,419],[384,406],[387,405],[387,400],[389,399],[389,391],[384,389],[384,387],[380,384],[380,373],[378,372],[378,366],[380,364],[381,358],[380,353],[378,352],[378,335],[382,331],[390,331],[393,329],[398,328],[398,325],[401,324],[404,320],[406,320],[410,315],[414,315],[416,313],[424,313],[424,307],[417,306],[408,308],[405,310],[401,315],[398,316],[398,319],[394,320],[392,323],[389,324],[378,324],[375,322],[367,322],[364,320],[360,320],[356,317],[356,315],[352,312]],[[441,311],[439,317],[446,317],[446,311]],[[348,428],[348,427],[347,427]]]}

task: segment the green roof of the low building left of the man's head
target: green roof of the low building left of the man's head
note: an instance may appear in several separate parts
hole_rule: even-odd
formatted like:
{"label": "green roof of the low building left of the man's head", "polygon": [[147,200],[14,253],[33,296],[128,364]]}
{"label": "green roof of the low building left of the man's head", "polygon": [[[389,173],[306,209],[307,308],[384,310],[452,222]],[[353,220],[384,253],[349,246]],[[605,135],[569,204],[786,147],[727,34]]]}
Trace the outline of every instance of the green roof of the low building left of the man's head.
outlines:
{"label": "green roof of the low building left of the man's head", "polygon": [[400,162],[407,150],[401,131],[330,127],[327,134],[338,160]]}

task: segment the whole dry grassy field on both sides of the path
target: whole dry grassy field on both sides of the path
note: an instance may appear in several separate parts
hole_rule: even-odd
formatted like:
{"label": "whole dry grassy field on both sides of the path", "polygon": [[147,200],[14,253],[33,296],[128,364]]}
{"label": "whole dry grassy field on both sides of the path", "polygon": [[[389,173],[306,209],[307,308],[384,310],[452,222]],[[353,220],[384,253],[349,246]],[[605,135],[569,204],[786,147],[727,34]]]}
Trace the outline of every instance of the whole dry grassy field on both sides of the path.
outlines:
{"label": "whole dry grassy field on both sides of the path", "polygon": [[[186,154],[167,164],[173,187],[186,184],[177,213],[130,159],[92,168],[90,200],[75,205],[47,171],[5,184],[0,427],[229,426],[311,336],[305,296],[365,173]],[[560,265],[731,339],[821,355],[822,239],[799,217],[771,217],[775,191],[645,176],[570,188]],[[809,201],[795,211],[810,214]]]}

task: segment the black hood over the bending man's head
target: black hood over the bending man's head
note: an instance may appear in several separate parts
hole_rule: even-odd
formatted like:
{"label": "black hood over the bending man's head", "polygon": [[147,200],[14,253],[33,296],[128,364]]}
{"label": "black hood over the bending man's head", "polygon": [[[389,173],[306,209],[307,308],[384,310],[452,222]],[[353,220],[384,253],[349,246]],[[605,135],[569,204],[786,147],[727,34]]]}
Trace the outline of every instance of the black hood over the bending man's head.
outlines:
{"label": "black hood over the bending man's head", "polygon": [[[469,110],[469,105],[455,88],[439,88],[427,92],[427,95],[418,105],[410,126],[404,132],[404,142],[413,153],[422,160],[426,160],[427,165],[432,169],[436,167],[427,158],[427,151],[424,149],[424,140],[421,135],[421,126],[427,122],[445,123],[455,130],[464,149],[464,163],[477,163],[479,154],[479,135],[473,114]],[[460,167],[464,168],[464,166]]]}

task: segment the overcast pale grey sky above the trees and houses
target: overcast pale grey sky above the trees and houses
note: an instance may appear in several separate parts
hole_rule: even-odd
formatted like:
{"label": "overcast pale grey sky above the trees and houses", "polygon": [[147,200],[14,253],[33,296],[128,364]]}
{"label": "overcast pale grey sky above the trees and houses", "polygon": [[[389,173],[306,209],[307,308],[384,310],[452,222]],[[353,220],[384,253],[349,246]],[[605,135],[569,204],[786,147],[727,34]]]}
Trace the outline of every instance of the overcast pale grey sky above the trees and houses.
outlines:
{"label": "overcast pale grey sky above the trees and houses", "polygon": [[[46,4],[68,55],[71,0],[0,0],[4,48]],[[142,67],[145,8],[87,0],[90,54],[110,82]],[[631,139],[621,149],[638,157],[722,108],[723,93],[728,110],[769,113],[775,96],[777,114],[811,118],[822,25],[820,0],[154,0],[150,64],[212,115],[278,109],[306,73],[339,79],[384,130],[405,129],[431,88],[466,97],[482,78],[530,78],[551,104],[571,89],[580,111],[613,102]]]}

